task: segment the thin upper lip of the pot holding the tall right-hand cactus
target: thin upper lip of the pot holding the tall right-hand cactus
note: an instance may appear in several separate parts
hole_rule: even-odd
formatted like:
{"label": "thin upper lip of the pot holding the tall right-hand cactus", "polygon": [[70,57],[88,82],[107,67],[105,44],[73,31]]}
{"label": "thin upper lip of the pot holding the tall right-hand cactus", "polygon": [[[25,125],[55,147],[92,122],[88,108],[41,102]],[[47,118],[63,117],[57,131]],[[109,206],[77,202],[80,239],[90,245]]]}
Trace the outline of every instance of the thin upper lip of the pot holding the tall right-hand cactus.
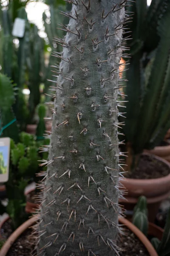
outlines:
{"label": "thin upper lip of the pot holding the tall right-hand cactus", "polygon": [[[161,157],[158,157],[158,156],[156,156],[154,154],[150,154],[150,153],[142,153],[142,155],[153,156],[157,160],[159,160],[159,161],[163,162],[164,164],[166,164],[169,167],[169,169],[170,169],[170,163],[167,160],[165,160],[165,159],[163,159]],[[168,175],[166,175],[164,177],[161,177],[161,178],[156,178],[156,179],[133,179],[133,178],[126,178],[126,177],[124,177],[124,178],[122,178],[122,180],[123,180],[123,183],[135,182],[135,183],[138,183],[138,184],[147,184],[147,185],[152,183],[152,184],[156,185],[156,184],[159,184],[160,182],[164,182],[164,181],[167,182],[167,177],[168,177],[168,179],[170,179],[170,174],[168,174]]]}

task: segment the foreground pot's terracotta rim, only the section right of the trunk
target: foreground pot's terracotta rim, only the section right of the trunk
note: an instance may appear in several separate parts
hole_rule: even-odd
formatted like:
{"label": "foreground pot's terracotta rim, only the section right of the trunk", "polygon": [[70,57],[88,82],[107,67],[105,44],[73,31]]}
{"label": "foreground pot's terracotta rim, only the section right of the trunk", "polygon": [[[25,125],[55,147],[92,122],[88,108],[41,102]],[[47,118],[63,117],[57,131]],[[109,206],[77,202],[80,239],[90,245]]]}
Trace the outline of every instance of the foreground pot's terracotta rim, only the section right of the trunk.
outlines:
{"label": "foreground pot's terracotta rim, only the section right of the trunk", "polygon": [[147,249],[150,256],[158,256],[153,245],[135,225],[133,225],[130,221],[122,217],[119,217],[119,222],[121,222],[121,224],[124,224],[129,230],[131,230],[138,237],[138,239],[142,242],[142,244],[144,244],[144,247]]}

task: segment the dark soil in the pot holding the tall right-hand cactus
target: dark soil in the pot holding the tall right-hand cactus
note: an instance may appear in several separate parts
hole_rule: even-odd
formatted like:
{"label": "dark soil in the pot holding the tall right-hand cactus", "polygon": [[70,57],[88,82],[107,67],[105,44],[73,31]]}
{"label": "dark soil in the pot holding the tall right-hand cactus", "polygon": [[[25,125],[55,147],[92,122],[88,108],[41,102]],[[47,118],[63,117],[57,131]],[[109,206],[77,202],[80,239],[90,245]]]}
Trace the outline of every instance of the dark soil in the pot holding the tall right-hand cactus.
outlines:
{"label": "dark soil in the pot holding the tall right-hand cactus", "polygon": [[138,167],[133,172],[126,172],[126,178],[156,179],[170,174],[170,168],[154,156],[142,155]]}

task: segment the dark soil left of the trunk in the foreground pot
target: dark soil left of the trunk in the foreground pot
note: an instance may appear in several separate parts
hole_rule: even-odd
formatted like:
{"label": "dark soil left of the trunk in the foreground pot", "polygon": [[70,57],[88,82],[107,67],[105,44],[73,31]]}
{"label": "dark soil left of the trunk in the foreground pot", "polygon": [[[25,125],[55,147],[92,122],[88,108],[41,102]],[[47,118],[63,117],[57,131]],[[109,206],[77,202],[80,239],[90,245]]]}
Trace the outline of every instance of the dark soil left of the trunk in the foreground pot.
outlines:
{"label": "dark soil left of the trunk in the foreground pot", "polygon": [[14,242],[6,256],[31,256],[34,250],[34,239],[29,237],[31,232],[31,229],[27,229]]}

